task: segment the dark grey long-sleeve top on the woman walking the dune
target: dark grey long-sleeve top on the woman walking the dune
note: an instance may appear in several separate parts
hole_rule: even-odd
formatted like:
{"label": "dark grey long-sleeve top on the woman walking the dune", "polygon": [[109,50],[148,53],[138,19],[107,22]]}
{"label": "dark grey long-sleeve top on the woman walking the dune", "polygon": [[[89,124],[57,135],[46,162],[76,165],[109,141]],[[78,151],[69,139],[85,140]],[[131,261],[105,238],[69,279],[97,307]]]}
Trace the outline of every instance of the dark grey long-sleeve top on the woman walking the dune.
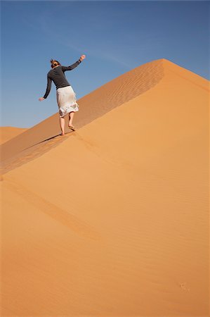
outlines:
{"label": "dark grey long-sleeve top on the woman walking the dune", "polygon": [[52,80],[56,86],[56,89],[71,86],[70,83],[67,81],[65,77],[65,71],[66,70],[72,70],[75,67],[77,67],[81,63],[81,60],[79,59],[71,66],[57,66],[51,70],[48,71],[47,74],[47,86],[46,86],[46,92],[44,94],[44,99],[48,97],[48,94],[51,91],[51,84]]}

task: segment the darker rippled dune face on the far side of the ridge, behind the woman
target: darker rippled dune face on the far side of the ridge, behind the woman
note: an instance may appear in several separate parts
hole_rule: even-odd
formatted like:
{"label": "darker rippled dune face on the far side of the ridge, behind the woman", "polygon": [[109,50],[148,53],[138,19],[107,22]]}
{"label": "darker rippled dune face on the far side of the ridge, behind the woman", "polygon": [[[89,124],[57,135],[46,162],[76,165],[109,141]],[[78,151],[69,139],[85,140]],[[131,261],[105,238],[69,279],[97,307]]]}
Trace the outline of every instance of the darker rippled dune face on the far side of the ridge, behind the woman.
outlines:
{"label": "darker rippled dune face on the far side of the ridge, behind the woman", "polygon": [[[113,108],[143,94],[157,85],[163,75],[163,61],[152,61],[124,73],[79,99],[77,128],[81,128]],[[65,132],[68,132],[67,116],[65,120]],[[59,116],[58,113],[55,113],[55,115],[34,125],[22,135],[6,142],[1,147],[1,161],[4,172],[20,166],[22,161],[33,159],[63,142],[64,138],[60,139],[59,135]]]}

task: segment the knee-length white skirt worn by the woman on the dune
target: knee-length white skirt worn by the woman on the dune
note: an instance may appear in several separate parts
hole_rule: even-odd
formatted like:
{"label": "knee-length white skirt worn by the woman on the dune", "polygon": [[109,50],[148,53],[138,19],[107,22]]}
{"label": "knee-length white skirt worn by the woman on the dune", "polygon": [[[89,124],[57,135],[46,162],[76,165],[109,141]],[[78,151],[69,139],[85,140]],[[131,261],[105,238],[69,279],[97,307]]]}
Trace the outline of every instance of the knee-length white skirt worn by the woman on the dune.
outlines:
{"label": "knee-length white skirt worn by the woman on the dune", "polygon": [[57,103],[59,108],[60,118],[63,118],[67,113],[79,111],[76,94],[72,86],[58,88],[56,90]]}

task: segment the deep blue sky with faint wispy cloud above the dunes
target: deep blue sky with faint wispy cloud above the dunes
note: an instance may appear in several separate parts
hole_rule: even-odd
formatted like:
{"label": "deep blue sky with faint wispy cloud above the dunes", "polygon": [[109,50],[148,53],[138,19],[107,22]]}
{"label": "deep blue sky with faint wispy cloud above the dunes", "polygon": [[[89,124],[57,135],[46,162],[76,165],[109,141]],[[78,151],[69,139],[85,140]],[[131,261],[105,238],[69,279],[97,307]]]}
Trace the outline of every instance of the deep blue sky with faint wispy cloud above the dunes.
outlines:
{"label": "deep blue sky with faint wispy cloud above the dunes", "polygon": [[[51,58],[77,99],[158,58],[209,79],[209,1],[1,1],[1,126],[30,128],[58,111],[44,101]],[[91,105],[90,105],[91,106]]]}

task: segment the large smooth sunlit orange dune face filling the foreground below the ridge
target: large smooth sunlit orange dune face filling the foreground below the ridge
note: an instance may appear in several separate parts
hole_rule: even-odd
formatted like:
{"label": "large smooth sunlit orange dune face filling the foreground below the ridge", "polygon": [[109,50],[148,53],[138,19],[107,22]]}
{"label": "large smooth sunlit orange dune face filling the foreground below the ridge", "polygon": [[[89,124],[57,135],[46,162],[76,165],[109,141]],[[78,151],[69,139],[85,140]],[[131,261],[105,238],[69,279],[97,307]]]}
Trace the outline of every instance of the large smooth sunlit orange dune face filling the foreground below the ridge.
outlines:
{"label": "large smooth sunlit orange dune face filling the foreground below the ridge", "polygon": [[2,176],[2,316],[209,316],[209,82],[155,63]]}

